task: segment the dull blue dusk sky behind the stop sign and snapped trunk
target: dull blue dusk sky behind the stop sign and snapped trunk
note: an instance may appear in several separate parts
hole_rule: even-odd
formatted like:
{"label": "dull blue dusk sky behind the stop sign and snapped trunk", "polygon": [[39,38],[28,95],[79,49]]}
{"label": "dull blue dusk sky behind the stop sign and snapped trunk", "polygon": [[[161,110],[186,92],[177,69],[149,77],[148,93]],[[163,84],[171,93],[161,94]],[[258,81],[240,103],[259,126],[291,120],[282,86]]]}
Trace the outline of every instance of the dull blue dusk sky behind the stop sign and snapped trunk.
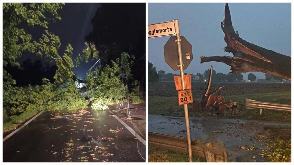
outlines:
{"label": "dull blue dusk sky behind the stop sign and snapped trunk", "polygon": [[[290,3],[229,3],[232,23],[239,36],[255,45],[291,56],[291,4]],[[193,49],[193,60],[186,70],[188,74],[204,73],[213,65],[216,72],[229,73],[230,66],[218,62],[200,64],[200,56],[228,55],[223,21],[225,3],[148,3],[148,24],[179,20],[180,35]],[[156,70],[177,73],[164,61],[163,46],[170,36],[148,39],[148,61]],[[264,73],[253,72],[257,79]],[[247,79],[248,73],[242,73]]]}

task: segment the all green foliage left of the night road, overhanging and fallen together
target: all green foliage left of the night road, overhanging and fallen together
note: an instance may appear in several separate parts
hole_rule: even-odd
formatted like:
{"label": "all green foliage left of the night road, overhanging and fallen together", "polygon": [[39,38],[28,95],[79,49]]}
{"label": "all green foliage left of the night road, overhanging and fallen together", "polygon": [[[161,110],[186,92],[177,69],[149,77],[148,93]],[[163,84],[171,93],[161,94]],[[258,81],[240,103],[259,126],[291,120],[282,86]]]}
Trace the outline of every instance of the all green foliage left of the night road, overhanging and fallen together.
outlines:
{"label": "all green foliage left of the night road, overhanging and fallen together", "polygon": [[[58,53],[59,37],[46,30],[49,21],[61,20],[57,11],[63,5],[64,3],[3,3],[3,107],[6,107],[11,118],[25,111],[74,110],[87,105],[72,80],[72,47],[69,45],[61,58]],[[44,29],[38,41],[33,40],[31,34],[24,29],[34,26]],[[5,69],[9,66],[19,67],[16,60],[23,51],[49,60],[56,58],[54,83],[44,78],[42,86],[12,86],[16,81]],[[28,60],[24,65],[28,67],[32,63]],[[35,62],[33,68],[42,68],[42,63]]]}

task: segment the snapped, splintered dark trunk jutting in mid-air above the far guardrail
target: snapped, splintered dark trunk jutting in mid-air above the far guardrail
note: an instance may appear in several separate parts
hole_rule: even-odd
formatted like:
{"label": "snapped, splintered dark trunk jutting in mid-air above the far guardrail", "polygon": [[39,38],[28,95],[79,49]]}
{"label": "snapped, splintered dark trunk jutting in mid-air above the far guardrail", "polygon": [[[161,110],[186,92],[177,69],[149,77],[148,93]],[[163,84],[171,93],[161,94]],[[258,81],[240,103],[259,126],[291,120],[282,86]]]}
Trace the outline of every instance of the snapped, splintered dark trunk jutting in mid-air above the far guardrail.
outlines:
{"label": "snapped, splintered dark trunk jutting in mid-air above the far guardrail", "polygon": [[225,4],[225,19],[221,23],[221,28],[225,33],[225,42],[227,43],[225,51],[233,53],[234,57],[201,56],[200,63],[222,62],[231,66],[231,73],[262,72],[291,80],[291,57],[248,43],[240,38],[233,28],[227,3]]}

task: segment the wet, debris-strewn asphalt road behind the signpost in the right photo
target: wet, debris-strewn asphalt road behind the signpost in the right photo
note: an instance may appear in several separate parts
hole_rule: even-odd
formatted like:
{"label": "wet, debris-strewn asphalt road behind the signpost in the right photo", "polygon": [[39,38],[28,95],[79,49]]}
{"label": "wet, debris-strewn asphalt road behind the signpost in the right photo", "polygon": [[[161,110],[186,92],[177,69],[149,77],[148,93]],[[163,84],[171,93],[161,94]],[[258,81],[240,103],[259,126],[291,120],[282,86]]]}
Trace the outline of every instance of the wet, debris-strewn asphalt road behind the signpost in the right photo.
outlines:
{"label": "wet, debris-strewn asphalt road behind the signpost in the right photo", "polygon": [[[191,139],[225,143],[228,158],[234,162],[265,162],[268,160],[259,153],[266,144],[255,138],[264,131],[263,126],[290,127],[291,123],[189,117],[189,126]],[[148,115],[148,132],[187,138],[185,117]],[[250,150],[250,146],[255,149]]]}

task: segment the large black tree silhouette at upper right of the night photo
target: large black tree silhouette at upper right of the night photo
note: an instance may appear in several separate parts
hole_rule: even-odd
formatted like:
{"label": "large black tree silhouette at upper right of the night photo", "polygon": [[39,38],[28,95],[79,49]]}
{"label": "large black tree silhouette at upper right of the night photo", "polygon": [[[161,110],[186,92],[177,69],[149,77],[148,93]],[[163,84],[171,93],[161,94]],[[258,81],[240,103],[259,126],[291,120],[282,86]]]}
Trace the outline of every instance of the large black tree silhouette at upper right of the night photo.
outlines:
{"label": "large black tree silhouette at upper right of the night photo", "polygon": [[93,31],[86,36],[86,42],[95,44],[102,68],[111,66],[111,60],[127,52],[135,56],[131,67],[134,78],[145,78],[146,4],[101,3],[91,24]]}

